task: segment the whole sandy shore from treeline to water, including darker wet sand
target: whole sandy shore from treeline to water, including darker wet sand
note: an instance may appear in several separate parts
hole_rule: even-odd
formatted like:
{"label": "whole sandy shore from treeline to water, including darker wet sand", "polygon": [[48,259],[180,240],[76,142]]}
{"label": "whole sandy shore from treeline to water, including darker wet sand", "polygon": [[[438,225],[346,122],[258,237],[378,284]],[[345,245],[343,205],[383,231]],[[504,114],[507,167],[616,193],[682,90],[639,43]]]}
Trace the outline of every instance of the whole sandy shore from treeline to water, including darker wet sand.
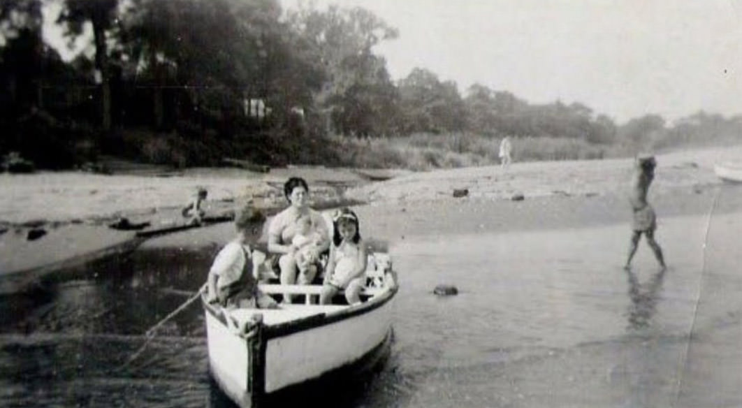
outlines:
{"label": "whole sandy shore from treeline to water, including darker wet sand", "polygon": [[[742,191],[738,185],[723,183],[713,173],[714,162],[732,157],[742,157],[742,146],[657,156],[657,177],[649,200],[657,211],[660,234],[664,218],[707,214],[716,194]],[[631,164],[631,159],[524,162],[505,171],[499,166],[487,166],[403,172],[381,182],[371,182],[352,169],[315,166],[276,169],[269,174],[191,169],[183,176],[167,178],[2,174],[0,187],[8,193],[0,198],[0,231],[4,230],[0,234],[0,258],[7,260],[23,253],[34,254],[35,259],[13,259],[4,266],[0,263],[0,274],[45,266],[49,263],[45,257],[63,260],[95,252],[102,245],[96,237],[111,235],[114,230],[107,223],[119,217],[130,217],[132,222],[151,220],[153,225],[182,222],[177,208],[199,186],[209,190],[207,204],[212,209],[237,209],[247,203],[263,210],[283,208],[286,204],[281,186],[286,178],[295,175],[309,182],[315,203],[322,207],[356,208],[364,220],[363,234],[381,240],[413,234],[580,228],[611,223],[627,223],[628,228],[630,214],[623,185],[628,181]],[[453,191],[463,188],[467,190],[464,197],[453,197]],[[742,208],[742,194],[725,194],[715,211],[732,212],[738,208]],[[49,236],[59,237],[59,243],[44,242],[44,237],[25,240],[25,232],[38,226],[49,229]],[[232,223],[194,228],[151,238],[144,245],[219,245],[229,240],[233,228]],[[122,235],[113,239],[133,235],[131,231],[119,234]],[[19,252],[19,248],[23,251]],[[13,271],[7,270],[9,265],[13,265]]]}

